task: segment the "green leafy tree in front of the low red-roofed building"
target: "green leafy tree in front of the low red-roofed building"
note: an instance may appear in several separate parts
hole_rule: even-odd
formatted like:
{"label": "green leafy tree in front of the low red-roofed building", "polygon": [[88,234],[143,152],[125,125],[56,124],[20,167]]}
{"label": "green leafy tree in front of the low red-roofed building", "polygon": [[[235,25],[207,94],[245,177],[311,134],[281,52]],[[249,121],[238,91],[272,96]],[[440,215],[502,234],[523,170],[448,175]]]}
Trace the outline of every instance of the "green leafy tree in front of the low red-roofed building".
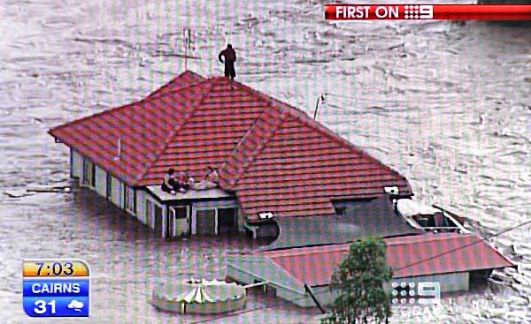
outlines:
{"label": "green leafy tree in front of the low red-roofed building", "polygon": [[385,250],[381,238],[350,245],[349,255],[332,275],[330,289],[339,294],[323,324],[367,323],[367,319],[388,323],[391,296],[383,285],[390,282],[392,271]]}

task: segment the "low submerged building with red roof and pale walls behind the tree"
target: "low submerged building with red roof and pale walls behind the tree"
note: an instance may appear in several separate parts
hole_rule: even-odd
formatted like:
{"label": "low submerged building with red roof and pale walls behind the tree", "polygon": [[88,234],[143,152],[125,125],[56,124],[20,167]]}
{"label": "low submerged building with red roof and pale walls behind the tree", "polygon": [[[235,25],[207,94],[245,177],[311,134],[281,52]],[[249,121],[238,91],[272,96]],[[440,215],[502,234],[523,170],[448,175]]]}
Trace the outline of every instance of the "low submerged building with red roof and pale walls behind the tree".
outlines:
{"label": "low submerged building with red roof and pale walls behind the tree", "polygon": [[[468,290],[471,276],[513,266],[473,233],[427,233],[384,241],[392,283],[398,286],[438,283],[441,292]],[[330,305],[336,297],[329,287],[332,274],[349,249],[350,244],[317,245],[233,255],[227,260],[227,276],[240,283],[265,283],[274,296],[301,307],[315,306],[313,298]],[[412,295],[406,296],[409,302]]]}

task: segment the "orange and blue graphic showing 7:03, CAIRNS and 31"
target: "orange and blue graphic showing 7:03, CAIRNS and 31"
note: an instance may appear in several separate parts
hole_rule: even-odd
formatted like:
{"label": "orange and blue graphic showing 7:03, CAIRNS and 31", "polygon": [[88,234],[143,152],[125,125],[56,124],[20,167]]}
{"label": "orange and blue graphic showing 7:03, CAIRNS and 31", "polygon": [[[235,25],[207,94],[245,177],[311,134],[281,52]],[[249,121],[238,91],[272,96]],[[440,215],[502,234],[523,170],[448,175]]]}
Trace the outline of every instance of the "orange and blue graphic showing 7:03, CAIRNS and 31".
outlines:
{"label": "orange and blue graphic showing 7:03, CAIRNS and 31", "polygon": [[24,260],[22,305],[30,317],[89,317],[89,264],[79,259]]}

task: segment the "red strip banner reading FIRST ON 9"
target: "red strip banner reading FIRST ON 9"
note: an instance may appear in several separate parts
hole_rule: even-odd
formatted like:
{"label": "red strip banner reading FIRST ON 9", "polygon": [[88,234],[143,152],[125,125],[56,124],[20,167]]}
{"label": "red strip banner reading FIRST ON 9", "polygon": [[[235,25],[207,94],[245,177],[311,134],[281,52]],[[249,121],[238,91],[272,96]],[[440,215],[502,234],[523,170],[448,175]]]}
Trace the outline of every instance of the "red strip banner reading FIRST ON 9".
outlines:
{"label": "red strip banner reading FIRST ON 9", "polygon": [[531,20],[529,4],[327,4],[327,20]]}

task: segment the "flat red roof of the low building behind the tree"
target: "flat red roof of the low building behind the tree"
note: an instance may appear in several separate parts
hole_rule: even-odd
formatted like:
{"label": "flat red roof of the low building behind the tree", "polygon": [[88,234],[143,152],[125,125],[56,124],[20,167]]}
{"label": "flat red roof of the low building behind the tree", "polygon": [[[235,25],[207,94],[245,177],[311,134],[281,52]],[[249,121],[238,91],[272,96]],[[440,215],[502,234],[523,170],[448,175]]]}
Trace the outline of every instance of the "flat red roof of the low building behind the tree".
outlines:
{"label": "flat red roof of the low building behind the tree", "polygon": [[[500,252],[475,234],[441,233],[384,238],[393,277],[437,275],[512,267]],[[348,255],[350,245],[322,245],[261,252],[300,283],[321,286]],[[316,267],[319,265],[319,267]]]}

